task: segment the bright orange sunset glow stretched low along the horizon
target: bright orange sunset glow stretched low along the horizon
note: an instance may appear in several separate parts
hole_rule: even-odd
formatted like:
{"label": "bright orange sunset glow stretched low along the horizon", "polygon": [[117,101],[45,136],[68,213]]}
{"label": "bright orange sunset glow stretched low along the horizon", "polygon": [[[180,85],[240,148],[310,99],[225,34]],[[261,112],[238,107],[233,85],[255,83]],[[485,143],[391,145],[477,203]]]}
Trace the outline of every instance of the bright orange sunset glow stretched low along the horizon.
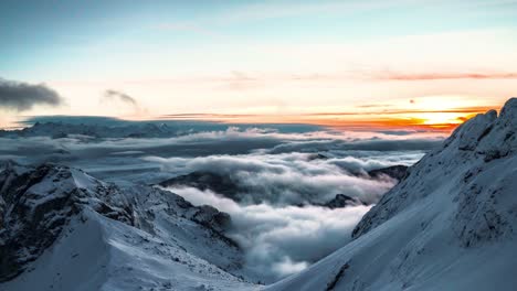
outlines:
{"label": "bright orange sunset glow stretched low along the horizon", "polygon": [[[347,111],[316,114],[172,114],[163,116],[130,115],[119,117],[123,120],[191,120],[222,123],[306,123],[349,131],[415,131],[450,133],[461,123],[477,114],[484,114],[499,106],[474,105],[461,107],[467,101],[445,98],[408,99],[405,103],[390,105],[358,105]],[[20,123],[18,123],[20,125]],[[12,126],[4,129],[17,129]]]}

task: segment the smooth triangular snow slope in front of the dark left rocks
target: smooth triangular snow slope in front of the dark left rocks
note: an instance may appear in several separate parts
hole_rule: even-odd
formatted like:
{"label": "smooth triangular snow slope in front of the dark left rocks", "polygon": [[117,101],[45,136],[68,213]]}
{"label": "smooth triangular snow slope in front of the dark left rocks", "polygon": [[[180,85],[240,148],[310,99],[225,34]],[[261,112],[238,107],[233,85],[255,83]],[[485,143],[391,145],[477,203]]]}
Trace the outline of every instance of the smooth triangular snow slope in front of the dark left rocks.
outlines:
{"label": "smooth triangular snow slope in front of the dark left rocks", "polygon": [[250,283],[126,224],[85,211],[1,290],[252,290]]}

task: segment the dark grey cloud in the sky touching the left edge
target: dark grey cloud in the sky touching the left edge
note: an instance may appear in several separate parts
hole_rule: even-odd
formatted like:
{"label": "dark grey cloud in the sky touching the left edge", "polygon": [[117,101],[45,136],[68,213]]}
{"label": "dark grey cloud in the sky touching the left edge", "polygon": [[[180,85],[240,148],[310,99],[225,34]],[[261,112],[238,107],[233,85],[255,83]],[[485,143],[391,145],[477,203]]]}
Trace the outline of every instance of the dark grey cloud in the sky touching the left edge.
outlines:
{"label": "dark grey cloud in the sky touching the left edge", "polygon": [[24,111],[36,105],[59,106],[61,104],[63,104],[63,98],[44,84],[32,85],[0,78],[0,107]]}

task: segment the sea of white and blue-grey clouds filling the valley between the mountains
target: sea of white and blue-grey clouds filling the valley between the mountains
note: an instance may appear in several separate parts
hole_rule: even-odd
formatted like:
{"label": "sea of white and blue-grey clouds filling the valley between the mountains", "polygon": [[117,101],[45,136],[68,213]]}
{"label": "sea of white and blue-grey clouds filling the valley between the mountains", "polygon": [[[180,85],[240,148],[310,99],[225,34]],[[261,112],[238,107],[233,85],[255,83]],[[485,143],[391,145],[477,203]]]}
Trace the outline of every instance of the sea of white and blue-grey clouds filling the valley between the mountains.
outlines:
{"label": "sea of white and blue-grey clouds filling the valley between the mountains", "polygon": [[[246,188],[235,202],[193,187],[170,191],[232,217],[228,235],[245,250],[252,278],[273,282],[298,272],[350,240],[359,219],[397,181],[367,172],[411,165],[441,142],[421,132],[341,132],[303,126],[203,126],[170,138],[91,136],[0,138],[0,160],[57,162],[116,183],[161,182],[196,171],[232,177]],[[366,205],[309,205],[336,194]]]}

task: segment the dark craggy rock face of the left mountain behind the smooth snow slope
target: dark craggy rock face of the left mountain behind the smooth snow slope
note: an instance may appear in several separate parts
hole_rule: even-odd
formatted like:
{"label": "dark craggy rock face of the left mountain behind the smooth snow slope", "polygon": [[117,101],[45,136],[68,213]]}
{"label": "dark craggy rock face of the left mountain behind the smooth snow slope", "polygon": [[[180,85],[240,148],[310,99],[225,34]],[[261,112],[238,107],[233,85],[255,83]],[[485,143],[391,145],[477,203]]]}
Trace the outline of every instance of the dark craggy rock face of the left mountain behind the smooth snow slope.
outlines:
{"label": "dark craggy rock face of the left mountain behind the smooth snow slope", "polygon": [[63,165],[8,163],[0,172],[0,282],[23,272],[85,209],[154,235],[173,236],[156,223],[158,218],[176,224],[189,220],[182,224],[183,231],[211,238],[199,239],[198,245],[229,250],[228,258],[215,258],[221,267],[239,265],[239,246],[222,233],[230,216],[213,207],[196,207],[176,194],[147,186],[123,190]]}

